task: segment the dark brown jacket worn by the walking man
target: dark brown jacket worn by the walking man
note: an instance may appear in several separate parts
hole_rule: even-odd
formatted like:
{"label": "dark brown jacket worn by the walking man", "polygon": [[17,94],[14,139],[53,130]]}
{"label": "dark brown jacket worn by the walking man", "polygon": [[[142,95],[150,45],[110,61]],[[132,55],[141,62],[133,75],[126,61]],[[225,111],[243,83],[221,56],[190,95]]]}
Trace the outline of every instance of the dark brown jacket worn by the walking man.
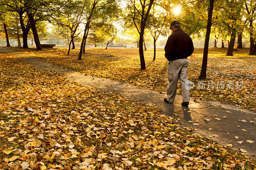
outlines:
{"label": "dark brown jacket worn by the walking man", "polygon": [[164,51],[168,61],[178,60],[192,55],[194,45],[190,36],[178,28],[168,37]]}

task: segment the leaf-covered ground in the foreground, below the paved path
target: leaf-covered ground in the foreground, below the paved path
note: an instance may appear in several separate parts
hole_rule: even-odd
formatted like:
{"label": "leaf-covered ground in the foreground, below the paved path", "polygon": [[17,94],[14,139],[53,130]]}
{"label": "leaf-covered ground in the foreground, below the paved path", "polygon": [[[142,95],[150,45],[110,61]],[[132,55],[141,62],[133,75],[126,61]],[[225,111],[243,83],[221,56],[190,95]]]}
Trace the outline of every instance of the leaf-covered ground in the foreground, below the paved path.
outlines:
{"label": "leaf-covered ground in the foreground, below the paved path", "polygon": [[245,150],[229,152],[119,94],[80,86],[10,55],[0,55],[0,74],[0,169],[256,167]]}

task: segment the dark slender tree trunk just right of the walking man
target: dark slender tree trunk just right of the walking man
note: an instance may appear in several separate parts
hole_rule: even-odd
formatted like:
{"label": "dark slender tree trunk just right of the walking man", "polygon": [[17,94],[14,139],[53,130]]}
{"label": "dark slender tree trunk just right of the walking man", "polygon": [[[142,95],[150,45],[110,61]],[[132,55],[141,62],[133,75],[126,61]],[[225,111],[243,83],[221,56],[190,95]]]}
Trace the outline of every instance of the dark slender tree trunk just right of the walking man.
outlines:
{"label": "dark slender tree trunk just right of the walking man", "polygon": [[207,28],[206,28],[206,35],[205,35],[205,41],[204,41],[203,63],[202,63],[202,68],[201,68],[199,79],[206,79],[208,48],[209,48],[209,40],[210,40],[210,33],[211,33],[211,27],[212,27],[213,3],[214,3],[214,0],[210,0],[209,11],[208,11],[208,21],[207,21]]}

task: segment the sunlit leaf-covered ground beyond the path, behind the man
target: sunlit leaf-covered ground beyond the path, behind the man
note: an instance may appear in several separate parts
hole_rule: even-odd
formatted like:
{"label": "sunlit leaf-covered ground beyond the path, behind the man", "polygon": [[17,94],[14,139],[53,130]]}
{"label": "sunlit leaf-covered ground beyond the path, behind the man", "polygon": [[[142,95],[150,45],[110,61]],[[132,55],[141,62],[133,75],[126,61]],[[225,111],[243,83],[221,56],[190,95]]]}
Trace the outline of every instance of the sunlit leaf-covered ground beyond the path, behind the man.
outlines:
{"label": "sunlit leaf-covered ground beyond the path, behind the man", "polygon": [[[81,71],[86,75],[110,78],[152,88],[159,92],[164,92],[167,88],[167,60],[164,57],[164,49],[157,49],[156,61],[152,61],[153,49],[144,51],[147,69],[142,71],[140,70],[138,49],[86,48],[81,61],[77,60],[79,53],[77,49],[71,50],[69,56],[66,55],[66,48],[44,49],[40,52],[35,49],[13,49],[42,57],[50,63]],[[238,49],[238,52],[234,51],[232,57],[225,56],[226,51],[227,48],[209,49],[207,80],[204,82],[205,88],[203,89],[203,85],[198,79],[203,48],[195,48],[195,52],[189,57],[190,64],[188,66],[188,78],[195,84],[195,87],[190,90],[190,95],[194,99],[218,100],[256,110],[256,57],[247,55],[249,48]],[[239,85],[242,82],[241,89]],[[178,88],[177,93],[182,93],[181,87]]]}

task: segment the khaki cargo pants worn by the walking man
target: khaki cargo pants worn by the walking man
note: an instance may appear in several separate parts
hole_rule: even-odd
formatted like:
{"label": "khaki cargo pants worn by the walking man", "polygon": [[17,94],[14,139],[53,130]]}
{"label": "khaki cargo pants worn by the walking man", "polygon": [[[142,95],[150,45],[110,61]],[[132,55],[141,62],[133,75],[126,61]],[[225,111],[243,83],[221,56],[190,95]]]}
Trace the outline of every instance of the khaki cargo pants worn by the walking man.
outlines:
{"label": "khaki cargo pants worn by the walking man", "polygon": [[182,86],[182,100],[189,102],[189,89],[186,88],[188,83],[188,59],[178,59],[169,62],[167,69],[168,86],[167,86],[167,101],[173,103],[177,92],[178,78]]}

